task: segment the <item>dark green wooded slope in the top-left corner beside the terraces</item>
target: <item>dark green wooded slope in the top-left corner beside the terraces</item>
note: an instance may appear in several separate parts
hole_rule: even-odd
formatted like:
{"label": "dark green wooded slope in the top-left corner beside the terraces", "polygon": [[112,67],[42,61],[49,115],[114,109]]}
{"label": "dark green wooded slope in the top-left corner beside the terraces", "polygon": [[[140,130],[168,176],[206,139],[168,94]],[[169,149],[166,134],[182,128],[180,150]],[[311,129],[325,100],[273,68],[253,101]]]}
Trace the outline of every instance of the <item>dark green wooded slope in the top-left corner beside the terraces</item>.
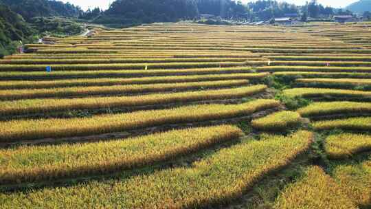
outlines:
{"label": "dark green wooded slope in the top-left corner beside the terraces", "polygon": [[[47,0],[0,0],[0,57],[43,34],[76,34],[80,25],[58,17],[78,17],[83,11],[69,3]],[[49,18],[46,18],[49,17]]]}

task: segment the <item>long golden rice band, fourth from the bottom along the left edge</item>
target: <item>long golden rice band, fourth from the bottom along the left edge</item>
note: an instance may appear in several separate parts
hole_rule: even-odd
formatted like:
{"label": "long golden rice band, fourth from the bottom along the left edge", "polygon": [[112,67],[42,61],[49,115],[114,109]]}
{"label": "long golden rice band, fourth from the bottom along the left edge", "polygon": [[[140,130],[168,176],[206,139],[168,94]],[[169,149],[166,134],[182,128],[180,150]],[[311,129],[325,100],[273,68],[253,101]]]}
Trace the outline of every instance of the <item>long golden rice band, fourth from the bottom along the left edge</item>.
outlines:
{"label": "long golden rice band, fourth from the bottom along the left edge", "polygon": [[157,104],[171,104],[174,102],[197,102],[200,100],[226,100],[251,96],[265,91],[265,89],[267,89],[267,86],[265,85],[255,85],[234,89],[188,91],[171,94],[2,101],[0,102],[0,115],[49,113],[54,111],[68,111],[71,109],[140,107]]}

